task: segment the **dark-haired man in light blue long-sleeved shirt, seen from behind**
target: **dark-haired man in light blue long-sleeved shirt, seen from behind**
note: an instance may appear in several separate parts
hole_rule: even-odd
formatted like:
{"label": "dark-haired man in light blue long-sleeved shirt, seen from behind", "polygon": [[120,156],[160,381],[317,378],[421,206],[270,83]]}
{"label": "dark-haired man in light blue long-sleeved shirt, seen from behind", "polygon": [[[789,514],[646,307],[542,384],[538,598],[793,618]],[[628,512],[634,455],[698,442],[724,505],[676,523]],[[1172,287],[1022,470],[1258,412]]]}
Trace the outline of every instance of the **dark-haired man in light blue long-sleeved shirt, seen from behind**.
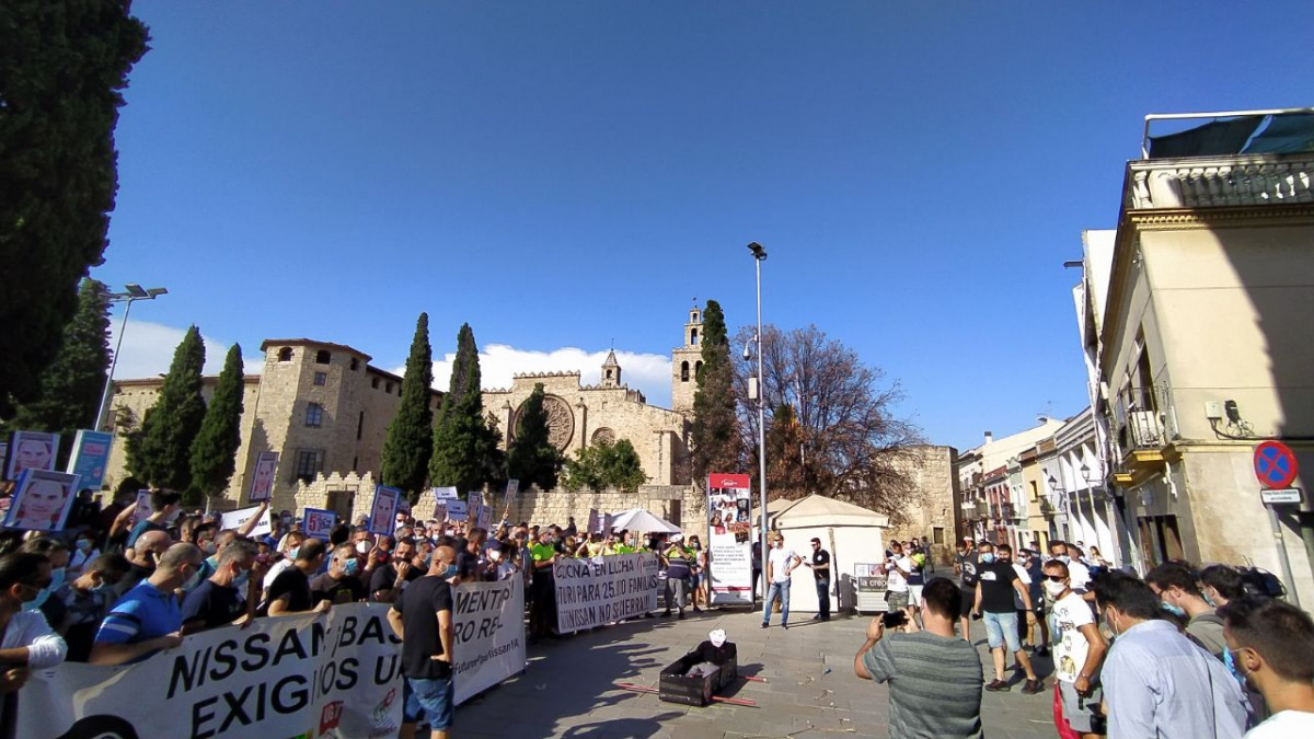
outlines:
{"label": "dark-haired man in light blue long-sleeved shirt, seen from behind", "polygon": [[1158,617],[1150,585],[1114,571],[1092,588],[1116,634],[1101,673],[1109,739],[1230,739],[1246,732],[1240,686],[1219,660]]}

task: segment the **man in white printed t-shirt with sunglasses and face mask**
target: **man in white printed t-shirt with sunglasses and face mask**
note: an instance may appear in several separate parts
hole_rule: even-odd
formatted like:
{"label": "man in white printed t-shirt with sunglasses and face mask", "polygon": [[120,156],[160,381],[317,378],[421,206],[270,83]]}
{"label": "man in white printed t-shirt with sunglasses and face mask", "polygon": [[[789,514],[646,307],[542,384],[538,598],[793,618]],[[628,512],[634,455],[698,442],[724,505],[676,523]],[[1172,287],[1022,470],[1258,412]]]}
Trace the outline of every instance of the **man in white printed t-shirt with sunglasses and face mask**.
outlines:
{"label": "man in white printed t-shirt with sunglasses and face mask", "polygon": [[1063,718],[1084,739],[1102,735],[1100,664],[1109,651],[1095,625],[1095,613],[1080,593],[1072,592],[1068,565],[1045,563],[1045,594],[1054,600],[1054,677],[1063,702]]}

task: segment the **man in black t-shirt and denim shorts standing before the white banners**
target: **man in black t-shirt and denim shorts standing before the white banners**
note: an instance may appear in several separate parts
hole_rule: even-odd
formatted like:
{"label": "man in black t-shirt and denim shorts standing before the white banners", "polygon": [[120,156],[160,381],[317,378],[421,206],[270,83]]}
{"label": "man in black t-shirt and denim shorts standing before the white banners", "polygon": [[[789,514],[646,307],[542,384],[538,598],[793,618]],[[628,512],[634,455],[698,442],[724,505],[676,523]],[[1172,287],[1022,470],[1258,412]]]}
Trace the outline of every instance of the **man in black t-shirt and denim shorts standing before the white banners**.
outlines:
{"label": "man in black t-shirt and denim shorts standing before the white banners", "polygon": [[406,698],[402,707],[403,736],[414,736],[415,723],[428,721],[434,739],[447,739],[452,726],[452,647],[456,643],[452,588],[456,550],[439,546],[428,572],[411,583],[388,609],[388,623],[402,640],[402,675]]}

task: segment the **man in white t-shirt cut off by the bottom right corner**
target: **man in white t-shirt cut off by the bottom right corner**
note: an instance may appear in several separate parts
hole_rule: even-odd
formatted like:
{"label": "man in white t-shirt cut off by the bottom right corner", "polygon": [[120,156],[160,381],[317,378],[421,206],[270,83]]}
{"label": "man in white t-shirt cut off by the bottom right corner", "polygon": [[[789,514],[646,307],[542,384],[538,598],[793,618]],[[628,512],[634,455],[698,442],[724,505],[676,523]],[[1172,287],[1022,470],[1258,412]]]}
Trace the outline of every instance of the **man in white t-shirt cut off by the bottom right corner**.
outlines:
{"label": "man in white t-shirt cut off by the bottom right corner", "polygon": [[1277,598],[1246,597],[1218,609],[1236,672],[1272,715],[1246,739],[1314,736],[1314,619]]}

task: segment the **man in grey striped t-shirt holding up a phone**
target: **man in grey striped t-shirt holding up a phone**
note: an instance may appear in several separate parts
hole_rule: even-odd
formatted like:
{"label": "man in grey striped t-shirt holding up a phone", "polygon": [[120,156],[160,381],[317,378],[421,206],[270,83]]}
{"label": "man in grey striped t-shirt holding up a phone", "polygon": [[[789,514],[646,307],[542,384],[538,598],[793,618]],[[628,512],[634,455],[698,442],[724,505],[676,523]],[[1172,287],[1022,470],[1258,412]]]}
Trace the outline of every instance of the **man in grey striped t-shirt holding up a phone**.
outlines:
{"label": "man in grey striped t-shirt holding up a phone", "polygon": [[[980,655],[954,635],[962,597],[954,581],[933,577],[921,592],[920,629],[912,606],[867,625],[853,672],[890,682],[891,736],[982,736]],[[886,634],[900,622],[905,632]]]}

